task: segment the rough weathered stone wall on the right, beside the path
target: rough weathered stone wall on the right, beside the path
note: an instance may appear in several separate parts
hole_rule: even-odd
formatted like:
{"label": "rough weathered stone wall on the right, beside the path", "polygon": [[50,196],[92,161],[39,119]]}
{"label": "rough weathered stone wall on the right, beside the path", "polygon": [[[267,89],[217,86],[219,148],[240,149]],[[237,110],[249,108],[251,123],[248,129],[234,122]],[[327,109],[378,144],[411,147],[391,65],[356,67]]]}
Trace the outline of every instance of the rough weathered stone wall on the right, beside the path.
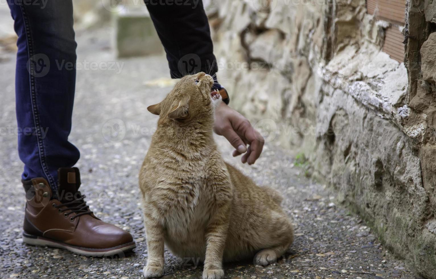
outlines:
{"label": "rough weathered stone wall on the right, beside the path", "polygon": [[365,0],[222,0],[211,26],[232,106],[436,278],[436,4],[406,14],[406,64]]}

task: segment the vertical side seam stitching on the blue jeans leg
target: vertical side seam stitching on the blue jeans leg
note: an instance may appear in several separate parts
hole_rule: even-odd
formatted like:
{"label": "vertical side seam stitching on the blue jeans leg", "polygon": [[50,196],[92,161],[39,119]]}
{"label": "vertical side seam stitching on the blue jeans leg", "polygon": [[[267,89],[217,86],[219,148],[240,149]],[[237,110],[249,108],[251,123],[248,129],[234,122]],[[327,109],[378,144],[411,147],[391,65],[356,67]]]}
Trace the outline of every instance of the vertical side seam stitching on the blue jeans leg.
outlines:
{"label": "vertical side seam stitching on the blue jeans leg", "polygon": [[27,42],[27,55],[29,57],[28,65],[29,65],[29,83],[30,83],[30,93],[31,93],[31,103],[32,103],[32,114],[33,114],[33,120],[35,124],[35,130],[36,130],[36,138],[37,138],[37,144],[38,144],[38,152],[39,152],[39,159],[41,162],[41,167],[43,169],[43,172],[45,176],[48,178],[48,183],[50,184],[52,189],[54,188],[55,183],[54,179],[51,176],[50,172],[48,171],[47,164],[46,164],[46,158],[45,158],[45,152],[44,152],[44,141],[41,139],[41,127],[40,127],[40,121],[39,121],[39,114],[37,110],[37,104],[36,104],[36,87],[35,87],[35,77],[34,77],[34,69],[33,65],[30,62],[31,57],[33,56],[33,44],[32,44],[32,35],[29,27],[29,21],[26,16],[26,11],[24,10],[24,7],[22,5],[22,1],[18,2],[21,10],[21,15],[23,17],[24,21],[24,28],[26,31],[26,42]]}

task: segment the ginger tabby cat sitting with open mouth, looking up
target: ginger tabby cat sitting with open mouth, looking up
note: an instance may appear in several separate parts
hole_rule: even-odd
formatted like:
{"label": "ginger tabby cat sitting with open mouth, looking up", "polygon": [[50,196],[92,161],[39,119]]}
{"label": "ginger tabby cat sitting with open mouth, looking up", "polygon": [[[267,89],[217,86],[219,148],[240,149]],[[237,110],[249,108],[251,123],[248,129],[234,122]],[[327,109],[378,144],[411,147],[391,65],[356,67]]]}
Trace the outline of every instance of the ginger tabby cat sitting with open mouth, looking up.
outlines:
{"label": "ginger tabby cat sitting with open mouth, looking up", "polygon": [[268,265],[290,247],[293,227],[282,198],[224,162],[213,138],[213,79],[182,78],[148,110],[160,115],[140,170],[148,245],[146,278],[162,276],[164,244],[174,255],[204,262],[203,279],[224,278],[223,261]]}

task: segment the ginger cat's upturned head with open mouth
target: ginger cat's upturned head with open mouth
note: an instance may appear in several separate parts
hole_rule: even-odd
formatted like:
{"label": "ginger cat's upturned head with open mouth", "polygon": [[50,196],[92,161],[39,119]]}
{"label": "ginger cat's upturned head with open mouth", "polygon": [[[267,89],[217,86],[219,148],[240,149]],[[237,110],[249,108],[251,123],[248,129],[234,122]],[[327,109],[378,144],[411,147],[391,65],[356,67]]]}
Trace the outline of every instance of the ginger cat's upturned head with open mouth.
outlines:
{"label": "ginger cat's upturned head with open mouth", "polygon": [[211,90],[213,83],[212,77],[204,72],[184,76],[162,102],[147,110],[162,120],[176,123],[213,121],[215,108],[221,103],[220,94]]}

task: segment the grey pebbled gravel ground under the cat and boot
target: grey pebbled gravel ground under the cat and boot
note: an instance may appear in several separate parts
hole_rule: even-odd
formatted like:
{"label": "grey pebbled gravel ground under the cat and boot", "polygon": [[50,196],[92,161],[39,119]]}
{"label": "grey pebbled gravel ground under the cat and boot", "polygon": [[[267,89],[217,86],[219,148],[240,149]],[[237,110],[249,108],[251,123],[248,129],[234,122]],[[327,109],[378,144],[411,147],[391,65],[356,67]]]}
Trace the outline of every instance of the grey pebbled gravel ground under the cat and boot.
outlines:
{"label": "grey pebbled gravel ground under the cat and boot", "polygon": [[[169,92],[171,80],[164,56],[114,60],[109,29],[78,34],[78,62],[119,63],[120,71],[82,69],[71,141],[82,152],[82,192],[95,214],[130,231],[137,248],[122,258],[87,258],[52,248],[22,243],[23,165],[18,159],[14,111],[14,54],[0,62],[0,277],[18,278],[141,278],[147,247],[140,213],[137,176],[150,144],[157,117],[146,107]],[[108,65],[109,65],[108,64]],[[116,68],[116,67],[115,67]],[[120,119],[114,120],[114,119]],[[125,125],[120,141],[107,137],[107,127]],[[109,141],[106,139],[108,138]],[[119,140],[120,138],[116,138]],[[293,155],[267,143],[254,166],[231,157],[231,146],[217,140],[223,156],[257,183],[278,189],[295,225],[295,242],[286,257],[266,268],[252,262],[225,265],[226,278],[420,278],[391,255],[369,227],[335,195],[310,181],[294,165]],[[201,278],[202,267],[166,252],[164,278]]]}

